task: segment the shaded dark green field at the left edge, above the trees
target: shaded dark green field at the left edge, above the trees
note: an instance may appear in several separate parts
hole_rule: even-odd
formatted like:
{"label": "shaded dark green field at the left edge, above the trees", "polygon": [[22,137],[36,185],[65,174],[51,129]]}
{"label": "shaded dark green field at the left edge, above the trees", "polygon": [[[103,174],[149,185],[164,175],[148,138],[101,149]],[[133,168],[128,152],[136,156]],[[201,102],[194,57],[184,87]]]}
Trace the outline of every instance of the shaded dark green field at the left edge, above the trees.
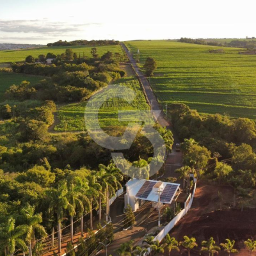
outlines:
{"label": "shaded dark green field at the left edge, above the trees", "polygon": [[4,100],[4,92],[10,88],[12,84],[19,85],[25,80],[29,81],[31,84],[35,84],[42,79],[45,79],[45,77],[29,76],[12,72],[0,72],[0,102]]}

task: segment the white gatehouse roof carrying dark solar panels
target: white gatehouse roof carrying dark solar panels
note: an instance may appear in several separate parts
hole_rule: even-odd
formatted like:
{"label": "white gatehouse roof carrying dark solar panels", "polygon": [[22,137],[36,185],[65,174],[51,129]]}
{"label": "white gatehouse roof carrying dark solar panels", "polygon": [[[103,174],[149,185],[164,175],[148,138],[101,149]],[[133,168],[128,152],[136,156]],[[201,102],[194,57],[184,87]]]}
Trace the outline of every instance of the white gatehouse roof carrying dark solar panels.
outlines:
{"label": "white gatehouse roof carrying dark solar panels", "polygon": [[159,195],[157,191],[160,189],[160,202],[171,204],[176,195],[180,184],[171,182],[159,182],[156,180],[131,179],[127,182],[127,194],[135,198],[158,202]]}

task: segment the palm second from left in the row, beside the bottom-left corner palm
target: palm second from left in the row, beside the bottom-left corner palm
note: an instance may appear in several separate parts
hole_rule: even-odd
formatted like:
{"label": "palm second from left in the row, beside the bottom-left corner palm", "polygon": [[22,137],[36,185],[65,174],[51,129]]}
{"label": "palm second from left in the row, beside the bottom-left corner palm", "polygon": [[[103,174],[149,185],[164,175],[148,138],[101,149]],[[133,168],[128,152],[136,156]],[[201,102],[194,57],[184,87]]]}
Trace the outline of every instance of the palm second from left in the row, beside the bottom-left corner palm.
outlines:
{"label": "palm second from left in the row, beside the bottom-left corner palm", "polygon": [[47,237],[47,233],[45,229],[40,223],[42,223],[42,212],[40,214],[35,214],[35,206],[31,206],[26,204],[24,208],[20,210],[22,223],[26,225],[26,241],[28,241],[29,245],[29,256],[32,256],[32,248],[35,246],[35,232],[40,234],[41,237]]}

